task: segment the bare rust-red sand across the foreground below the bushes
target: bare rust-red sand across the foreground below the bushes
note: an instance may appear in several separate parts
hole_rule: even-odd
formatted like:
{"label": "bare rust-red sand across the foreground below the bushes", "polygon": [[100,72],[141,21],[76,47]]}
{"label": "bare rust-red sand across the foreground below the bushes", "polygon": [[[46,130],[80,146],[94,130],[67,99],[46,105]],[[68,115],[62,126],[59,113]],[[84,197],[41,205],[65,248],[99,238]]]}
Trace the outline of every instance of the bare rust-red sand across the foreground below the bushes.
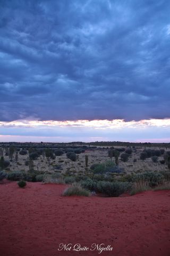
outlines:
{"label": "bare rust-red sand across the foreground below the bushes", "polygon": [[[170,191],[63,197],[64,185],[0,184],[1,256],[170,255]],[[113,251],[57,251],[60,243]]]}

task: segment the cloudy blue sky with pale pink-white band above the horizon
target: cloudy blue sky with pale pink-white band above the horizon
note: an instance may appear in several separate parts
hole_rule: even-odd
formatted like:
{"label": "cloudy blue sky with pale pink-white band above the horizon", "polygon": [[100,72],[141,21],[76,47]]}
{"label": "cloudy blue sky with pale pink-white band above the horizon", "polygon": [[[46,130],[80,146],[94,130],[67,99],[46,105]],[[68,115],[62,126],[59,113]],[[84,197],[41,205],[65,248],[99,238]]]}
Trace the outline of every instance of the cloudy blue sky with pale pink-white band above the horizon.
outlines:
{"label": "cloudy blue sky with pale pink-white band above the horizon", "polygon": [[1,0],[0,141],[170,142],[169,12]]}

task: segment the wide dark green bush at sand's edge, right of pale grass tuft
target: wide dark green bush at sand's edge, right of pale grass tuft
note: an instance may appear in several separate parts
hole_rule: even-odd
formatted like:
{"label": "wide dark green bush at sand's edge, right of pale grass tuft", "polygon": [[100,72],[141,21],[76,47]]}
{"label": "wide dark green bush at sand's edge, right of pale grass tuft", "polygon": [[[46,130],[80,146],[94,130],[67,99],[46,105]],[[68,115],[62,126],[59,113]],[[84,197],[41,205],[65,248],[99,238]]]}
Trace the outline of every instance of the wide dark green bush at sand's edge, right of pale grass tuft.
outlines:
{"label": "wide dark green bush at sand's edge, right of pale grass tuft", "polygon": [[109,182],[99,181],[97,183],[97,191],[107,196],[120,196],[131,188],[129,182]]}

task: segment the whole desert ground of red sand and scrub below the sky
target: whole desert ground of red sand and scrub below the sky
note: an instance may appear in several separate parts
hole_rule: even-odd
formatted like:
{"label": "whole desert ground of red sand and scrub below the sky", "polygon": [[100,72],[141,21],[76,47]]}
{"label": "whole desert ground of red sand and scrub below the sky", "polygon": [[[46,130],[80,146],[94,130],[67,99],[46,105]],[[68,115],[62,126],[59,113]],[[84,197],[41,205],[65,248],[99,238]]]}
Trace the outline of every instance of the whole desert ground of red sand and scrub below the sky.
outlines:
{"label": "whole desert ground of red sand and scrub below the sky", "polygon": [[169,256],[168,146],[3,143],[1,255]]}

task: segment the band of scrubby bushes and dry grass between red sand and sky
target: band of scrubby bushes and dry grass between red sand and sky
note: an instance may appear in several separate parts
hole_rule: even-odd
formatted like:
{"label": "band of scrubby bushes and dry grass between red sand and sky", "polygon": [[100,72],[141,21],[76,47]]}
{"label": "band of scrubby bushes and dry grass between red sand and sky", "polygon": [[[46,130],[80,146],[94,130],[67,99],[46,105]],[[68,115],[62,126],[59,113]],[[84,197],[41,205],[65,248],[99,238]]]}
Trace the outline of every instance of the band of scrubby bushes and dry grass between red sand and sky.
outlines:
{"label": "band of scrubby bushes and dry grass between red sand and sky", "polygon": [[0,143],[1,183],[4,179],[21,186],[66,183],[71,187],[65,195],[164,189],[170,182],[169,143]]}

